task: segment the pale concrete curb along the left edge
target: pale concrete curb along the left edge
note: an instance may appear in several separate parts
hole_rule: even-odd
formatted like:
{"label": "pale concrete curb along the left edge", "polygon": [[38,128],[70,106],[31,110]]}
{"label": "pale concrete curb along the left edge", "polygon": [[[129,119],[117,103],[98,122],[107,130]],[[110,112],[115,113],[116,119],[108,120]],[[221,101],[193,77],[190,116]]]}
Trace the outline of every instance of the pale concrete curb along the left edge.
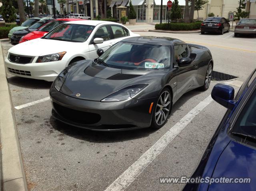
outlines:
{"label": "pale concrete curb along the left edge", "polygon": [[0,142],[1,185],[3,191],[27,191],[20,144],[12,110],[0,41]]}

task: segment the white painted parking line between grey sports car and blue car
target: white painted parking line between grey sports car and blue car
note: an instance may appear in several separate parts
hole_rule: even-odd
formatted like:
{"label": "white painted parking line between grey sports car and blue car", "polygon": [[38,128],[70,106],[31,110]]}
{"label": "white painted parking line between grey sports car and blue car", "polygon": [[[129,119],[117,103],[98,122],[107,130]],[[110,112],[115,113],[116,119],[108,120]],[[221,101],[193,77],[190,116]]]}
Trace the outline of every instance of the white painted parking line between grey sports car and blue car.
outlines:
{"label": "white painted parking line between grey sports car and blue car", "polygon": [[212,101],[208,96],[189,111],[178,123],[169,129],[150,149],[135,161],[105,191],[123,191],[144,171],[144,169],[164,150],[164,148],[186,127],[200,111]]}

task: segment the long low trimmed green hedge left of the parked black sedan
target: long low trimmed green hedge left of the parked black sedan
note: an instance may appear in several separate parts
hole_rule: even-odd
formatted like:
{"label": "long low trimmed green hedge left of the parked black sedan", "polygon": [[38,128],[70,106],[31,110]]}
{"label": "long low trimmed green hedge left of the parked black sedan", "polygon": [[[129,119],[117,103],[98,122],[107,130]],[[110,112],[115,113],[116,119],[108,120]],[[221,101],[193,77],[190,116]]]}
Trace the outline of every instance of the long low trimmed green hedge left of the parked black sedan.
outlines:
{"label": "long low trimmed green hedge left of the parked black sedan", "polygon": [[196,30],[200,29],[200,22],[192,22],[192,23],[162,23],[156,24],[156,30]]}

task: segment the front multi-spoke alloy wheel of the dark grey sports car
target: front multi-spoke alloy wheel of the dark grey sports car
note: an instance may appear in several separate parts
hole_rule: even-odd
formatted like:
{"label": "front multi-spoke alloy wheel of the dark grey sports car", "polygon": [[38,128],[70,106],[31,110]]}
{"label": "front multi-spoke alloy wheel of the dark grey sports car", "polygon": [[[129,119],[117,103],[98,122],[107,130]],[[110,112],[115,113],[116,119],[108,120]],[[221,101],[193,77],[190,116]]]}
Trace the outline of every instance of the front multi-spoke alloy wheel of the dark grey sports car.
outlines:
{"label": "front multi-spoke alloy wheel of the dark grey sports car", "polygon": [[170,106],[171,106],[170,93],[168,91],[164,91],[160,95],[156,104],[155,119],[158,125],[162,125],[166,121],[168,117],[168,113],[170,111]]}

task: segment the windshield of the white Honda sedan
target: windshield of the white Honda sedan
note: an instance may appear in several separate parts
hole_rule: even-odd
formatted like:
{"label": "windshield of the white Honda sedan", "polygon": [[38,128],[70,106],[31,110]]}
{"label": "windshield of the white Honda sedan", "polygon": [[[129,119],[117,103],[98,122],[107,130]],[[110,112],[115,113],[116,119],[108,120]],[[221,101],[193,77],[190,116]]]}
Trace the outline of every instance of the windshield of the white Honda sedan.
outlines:
{"label": "windshield of the white Honda sedan", "polygon": [[85,42],[93,29],[94,26],[84,24],[62,24],[49,32],[44,38],[68,42]]}

